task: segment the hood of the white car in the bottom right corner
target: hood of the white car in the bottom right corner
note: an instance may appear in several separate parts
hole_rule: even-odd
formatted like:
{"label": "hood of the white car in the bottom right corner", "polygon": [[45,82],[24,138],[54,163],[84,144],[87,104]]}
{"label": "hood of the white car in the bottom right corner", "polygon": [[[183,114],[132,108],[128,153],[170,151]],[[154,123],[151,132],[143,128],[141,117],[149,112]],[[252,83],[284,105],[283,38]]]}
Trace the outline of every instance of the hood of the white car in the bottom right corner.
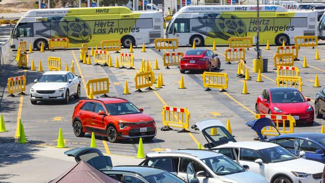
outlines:
{"label": "hood of the white car in the bottom right corner", "polygon": [[297,172],[303,172],[303,173],[321,173],[324,168],[324,164],[312,161],[308,159],[298,158],[290,161],[283,161],[279,163],[272,163],[273,168],[276,168],[281,171],[287,170],[287,171],[297,171]]}

